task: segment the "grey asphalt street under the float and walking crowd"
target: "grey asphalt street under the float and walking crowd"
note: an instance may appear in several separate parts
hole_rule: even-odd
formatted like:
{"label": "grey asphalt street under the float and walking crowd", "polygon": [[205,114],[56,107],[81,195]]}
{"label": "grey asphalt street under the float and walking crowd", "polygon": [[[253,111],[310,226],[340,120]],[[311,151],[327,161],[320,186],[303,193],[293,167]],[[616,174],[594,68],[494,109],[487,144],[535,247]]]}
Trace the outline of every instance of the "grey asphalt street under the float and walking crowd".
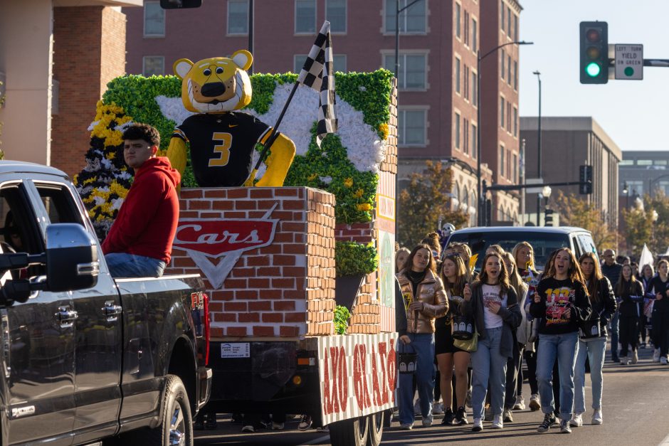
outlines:
{"label": "grey asphalt street under the float and walking crowd", "polygon": [[[436,417],[432,428],[416,427],[411,431],[399,430],[397,422],[384,431],[384,445],[451,445],[468,441],[476,445],[517,445],[531,442],[535,445],[660,445],[669,435],[669,366],[650,361],[650,349],[641,350],[641,361],[634,366],[607,363],[604,368],[604,425],[590,425],[591,411],[584,415],[586,423],[574,428],[571,435],[559,434],[552,428],[539,434],[537,425],[541,413],[524,410],[514,412],[514,423],[507,423],[503,430],[490,429],[484,423],[483,432],[473,433],[467,427],[443,428]],[[586,407],[590,406],[590,388],[586,387]],[[530,395],[527,382],[523,389]],[[471,417],[470,417],[471,420]],[[416,426],[420,426],[416,420]],[[286,423],[286,430],[263,430],[256,434],[243,434],[239,425],[229,423],[229,418],[219,420],[218,429],[198,432],[196,445],[328,445],[327,433],[296,430],[297,420]],[[475,442],[475,443],[473,443]],[[667,443],[669,445],[669,442]]]}

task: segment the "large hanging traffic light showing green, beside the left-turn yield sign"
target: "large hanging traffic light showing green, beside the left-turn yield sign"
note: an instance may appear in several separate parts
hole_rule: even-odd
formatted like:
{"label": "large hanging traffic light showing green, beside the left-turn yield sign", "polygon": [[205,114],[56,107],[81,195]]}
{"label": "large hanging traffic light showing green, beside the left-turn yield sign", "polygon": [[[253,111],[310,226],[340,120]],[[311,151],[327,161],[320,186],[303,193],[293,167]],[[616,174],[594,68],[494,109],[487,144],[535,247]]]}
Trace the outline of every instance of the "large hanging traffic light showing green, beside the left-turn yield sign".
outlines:
{"label": "large hanging traffic light showing green, beside the left-turn yield sign", "polygon": [[605,21],[582,21],[581,84],[609,82],[609,24]]}

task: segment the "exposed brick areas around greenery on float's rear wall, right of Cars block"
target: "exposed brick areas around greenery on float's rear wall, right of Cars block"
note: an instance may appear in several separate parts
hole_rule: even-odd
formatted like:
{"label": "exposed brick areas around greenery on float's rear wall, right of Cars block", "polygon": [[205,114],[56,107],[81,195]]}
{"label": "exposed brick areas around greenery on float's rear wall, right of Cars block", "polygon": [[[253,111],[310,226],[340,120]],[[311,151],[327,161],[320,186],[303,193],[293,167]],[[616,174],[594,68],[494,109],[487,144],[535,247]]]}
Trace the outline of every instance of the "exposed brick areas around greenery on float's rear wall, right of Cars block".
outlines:
{"label": "exposed brick areas around greenery on float's rear wall, right of Cars block", "polygon": [[[394,198],[395,174],[397,172],[397,90],[393,88],[386,139],[386,158],[381,162],[379,186],[376,193]],[[338,242],[373,243],[379,238],[379,200],[376,200],[376,218],[369,223],[338,224],[334,227],[334,238]],[[394,230],[393,230],[394,232]],[[378,243],[376,244],[378,247]],[[357,299],[351,310],[351,319],[347,334],[378,334],[381,331],[394,331],[394,310],[381,305],[376,293],[379,271],[364,277],[358,290]],[[384,315],[384,312],[386,313]],[[391,313],[391,314],[389,314]],[[385,316],[385,317],[384,317]],[[391,322],[391,323],[390,323]]]}

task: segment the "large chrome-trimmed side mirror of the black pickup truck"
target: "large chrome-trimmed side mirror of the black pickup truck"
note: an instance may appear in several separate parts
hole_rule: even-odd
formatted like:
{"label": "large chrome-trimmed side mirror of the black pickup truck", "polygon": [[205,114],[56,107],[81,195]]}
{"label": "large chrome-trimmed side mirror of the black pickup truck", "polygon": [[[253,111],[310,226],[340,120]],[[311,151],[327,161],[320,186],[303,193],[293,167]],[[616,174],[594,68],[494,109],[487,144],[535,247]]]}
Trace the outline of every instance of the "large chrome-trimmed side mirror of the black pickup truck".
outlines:
{"label": "large chrome-trimmed side mirror of the black pickup truck", "polygon": [[46,228],[46,282],[53,292],[84,290],[98,283],[98,244],[77,223]]}

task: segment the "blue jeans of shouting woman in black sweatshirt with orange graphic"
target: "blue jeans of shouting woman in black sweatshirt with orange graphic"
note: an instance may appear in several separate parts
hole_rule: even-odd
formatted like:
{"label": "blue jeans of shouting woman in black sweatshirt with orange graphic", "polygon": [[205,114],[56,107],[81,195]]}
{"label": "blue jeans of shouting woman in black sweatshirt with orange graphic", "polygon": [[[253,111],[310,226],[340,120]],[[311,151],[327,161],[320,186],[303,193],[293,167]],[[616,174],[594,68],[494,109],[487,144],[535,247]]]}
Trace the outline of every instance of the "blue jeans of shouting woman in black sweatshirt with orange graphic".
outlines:
{"label": "blue jeans of shouting woman in black sweatshirt with orange graphic", "polygon": [[574,365],[578,349],[578,331],[566,334],[539,334],[537,382],[543,413],[553,413],[555,410],[553,365],[557,358],[560,375],[560,418],[571,418],[571,407],[574,405]]}

